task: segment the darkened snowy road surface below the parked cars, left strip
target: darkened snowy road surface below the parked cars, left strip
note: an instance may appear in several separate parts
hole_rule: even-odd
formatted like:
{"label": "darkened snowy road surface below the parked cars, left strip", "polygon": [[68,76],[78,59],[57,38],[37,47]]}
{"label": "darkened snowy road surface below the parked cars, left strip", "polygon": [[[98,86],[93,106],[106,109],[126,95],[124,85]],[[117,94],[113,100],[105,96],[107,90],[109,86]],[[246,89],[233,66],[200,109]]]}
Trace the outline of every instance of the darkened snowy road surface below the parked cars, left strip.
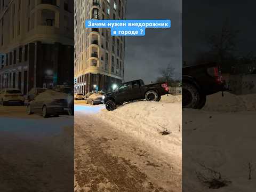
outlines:
{"label": "darkened snowy road surface below the parked cars, left strip", "polygon": [[73,125],[73,117],[0,106],[0,191],[72,191]]}

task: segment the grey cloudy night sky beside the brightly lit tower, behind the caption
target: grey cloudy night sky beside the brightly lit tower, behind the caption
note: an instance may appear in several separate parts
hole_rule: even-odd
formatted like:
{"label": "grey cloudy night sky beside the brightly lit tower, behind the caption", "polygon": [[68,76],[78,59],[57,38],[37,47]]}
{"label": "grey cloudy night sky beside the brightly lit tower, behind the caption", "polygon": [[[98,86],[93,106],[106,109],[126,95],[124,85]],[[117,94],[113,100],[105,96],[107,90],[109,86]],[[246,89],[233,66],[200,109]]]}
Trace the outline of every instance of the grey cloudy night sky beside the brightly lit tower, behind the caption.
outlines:
{"label": "grey cloudy night sky beside the brightly lit tower, behind the caption", "polygon": [[144,37],[126,37],[125,81],[155,81],[159,69],[169,63],[175,78],[181,78],[181,10],[180,0],[127,0],[126,19],[170,19],[171,28],[146,29]]}

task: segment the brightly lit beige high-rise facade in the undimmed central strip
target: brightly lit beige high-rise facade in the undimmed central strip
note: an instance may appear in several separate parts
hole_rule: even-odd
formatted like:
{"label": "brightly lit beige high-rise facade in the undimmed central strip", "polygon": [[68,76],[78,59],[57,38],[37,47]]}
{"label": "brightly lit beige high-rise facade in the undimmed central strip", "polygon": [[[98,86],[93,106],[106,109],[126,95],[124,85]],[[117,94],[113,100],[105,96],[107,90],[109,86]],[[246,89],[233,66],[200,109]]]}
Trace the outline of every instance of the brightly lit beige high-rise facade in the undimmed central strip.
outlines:
{"label": "brightly lit beige high-rise facade in the undimmed central strip", "polygon": [[125,38],[109,28],[85,28],[89,19],[125,19],[126,0],[75,0],[75,92],[110,91],[124,78]]}

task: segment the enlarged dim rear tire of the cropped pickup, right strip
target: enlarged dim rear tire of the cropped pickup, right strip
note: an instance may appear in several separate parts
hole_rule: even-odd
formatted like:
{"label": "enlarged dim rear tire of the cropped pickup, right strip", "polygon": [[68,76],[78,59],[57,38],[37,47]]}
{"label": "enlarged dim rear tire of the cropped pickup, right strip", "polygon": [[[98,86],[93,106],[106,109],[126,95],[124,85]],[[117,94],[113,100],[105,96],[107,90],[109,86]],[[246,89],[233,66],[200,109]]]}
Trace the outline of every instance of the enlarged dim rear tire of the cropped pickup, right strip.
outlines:
{"label": "enlarged dim rear tire of the cropped pickup, right strip", "polygon": [[200,101],[200,93],[195,85],[183,83],[182,85],[182,108],[197,109]]}

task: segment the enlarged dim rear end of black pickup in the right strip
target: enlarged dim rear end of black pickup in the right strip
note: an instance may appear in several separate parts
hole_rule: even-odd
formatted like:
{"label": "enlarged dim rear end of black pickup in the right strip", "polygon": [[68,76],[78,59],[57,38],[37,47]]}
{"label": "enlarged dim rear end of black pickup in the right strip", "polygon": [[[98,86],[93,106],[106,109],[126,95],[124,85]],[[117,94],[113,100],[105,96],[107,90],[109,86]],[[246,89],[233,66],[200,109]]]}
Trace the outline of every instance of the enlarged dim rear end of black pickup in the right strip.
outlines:
{"label": "enlarged dim rear end of black pickup in the right strip", "polygon": [[225,81],[217,63],[182,67],[182,107],[201,109],[206,95],[225,91]]}

